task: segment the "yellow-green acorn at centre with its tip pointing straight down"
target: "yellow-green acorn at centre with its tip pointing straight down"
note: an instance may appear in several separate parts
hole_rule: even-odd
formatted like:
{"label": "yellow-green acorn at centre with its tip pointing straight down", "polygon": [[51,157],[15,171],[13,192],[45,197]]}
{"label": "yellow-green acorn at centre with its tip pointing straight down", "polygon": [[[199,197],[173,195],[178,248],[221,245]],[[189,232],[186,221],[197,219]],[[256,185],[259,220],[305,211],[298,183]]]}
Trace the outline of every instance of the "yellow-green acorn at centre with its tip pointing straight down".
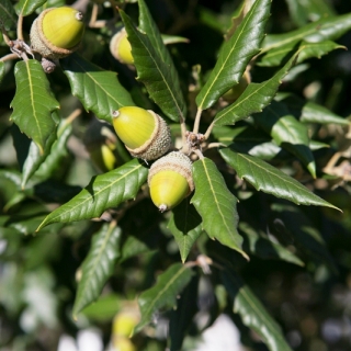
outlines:
{"label": "yellow-green acorn at centre with its tip pointing straight down", "polygon": [[160,212],[173,208],[194,190],[190,158],[180,151],[161,157],[150,167],[148,185]]}

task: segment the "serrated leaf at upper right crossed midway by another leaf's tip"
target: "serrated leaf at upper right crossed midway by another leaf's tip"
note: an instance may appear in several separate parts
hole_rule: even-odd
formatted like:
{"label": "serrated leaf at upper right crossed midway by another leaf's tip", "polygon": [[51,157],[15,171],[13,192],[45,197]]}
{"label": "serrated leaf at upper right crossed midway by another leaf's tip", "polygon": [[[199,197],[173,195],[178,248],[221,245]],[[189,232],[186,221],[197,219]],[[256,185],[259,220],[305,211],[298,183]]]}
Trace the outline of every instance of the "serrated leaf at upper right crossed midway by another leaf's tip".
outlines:
{"label": "serrated leaf at upper right crossed midway by another leaf's tip", "polygon": [[[261,60],[258,61],[258,65],[263,67],[279,66],[284,61],[285,57],[288,57],[290,53],[294,50],[296,46],[297,41],[271,49],[262,57]],[[346,48],[344,46],[331,41],[325,41],[320,43],[308,43],[303,41],[298,47],[301,49],[297,58],[298,64],[303,63],[308,58],[320,58],[321,56],[327,55],[328,53],[337,48]]]}

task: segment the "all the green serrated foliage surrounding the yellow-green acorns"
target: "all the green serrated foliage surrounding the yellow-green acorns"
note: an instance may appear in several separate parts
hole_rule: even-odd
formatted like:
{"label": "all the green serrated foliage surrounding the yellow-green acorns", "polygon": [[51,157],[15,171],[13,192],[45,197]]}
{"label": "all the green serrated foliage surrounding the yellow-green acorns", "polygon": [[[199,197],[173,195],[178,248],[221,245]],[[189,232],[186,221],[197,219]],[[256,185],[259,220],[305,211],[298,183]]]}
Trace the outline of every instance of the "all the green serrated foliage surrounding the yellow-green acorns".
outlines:
{"label": "all the green serrated foliage surrounding the yellow-green acorns", "polygon": [[[335,341],[329,316],[350,317],[336,298],[351,268],[351,8],[275,2],[77,1],[84,37],[48,75],[29,31],[65,1],[0,0],[0,348],[56,350],[89,326],[117,348],[126,310],[137,350],[195,350],[222,314],[251,350]],[[134,65],[109,50],[122,26]],[[166,213],[151,162],[113,131],[128,105],[165,117],[193,161],[194,192]],[[97,168],[105,151],[114,169]]]}

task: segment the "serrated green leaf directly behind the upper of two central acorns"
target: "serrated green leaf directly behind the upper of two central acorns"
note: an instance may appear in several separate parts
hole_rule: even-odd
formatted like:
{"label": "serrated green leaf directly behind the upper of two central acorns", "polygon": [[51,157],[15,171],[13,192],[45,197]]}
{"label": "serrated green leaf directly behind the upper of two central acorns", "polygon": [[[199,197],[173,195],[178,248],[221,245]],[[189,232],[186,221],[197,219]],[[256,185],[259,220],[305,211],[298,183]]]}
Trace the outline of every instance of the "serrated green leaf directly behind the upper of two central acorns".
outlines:
{"label": "serrated green leaf directly behind the upper of two central acorns", "polygon": [[115,72],[103,70],[78,54],[63,59],[61,65],[72,94],[99,118],[111,123],[113,111],[135,105]]}

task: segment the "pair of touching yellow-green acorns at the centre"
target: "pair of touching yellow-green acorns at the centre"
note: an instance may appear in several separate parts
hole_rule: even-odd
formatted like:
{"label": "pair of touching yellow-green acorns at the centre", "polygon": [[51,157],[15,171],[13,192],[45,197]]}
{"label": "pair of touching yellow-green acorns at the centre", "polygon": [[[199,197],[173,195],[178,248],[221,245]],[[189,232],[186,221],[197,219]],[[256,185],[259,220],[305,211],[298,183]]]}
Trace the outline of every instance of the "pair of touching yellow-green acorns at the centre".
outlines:
{"label": "pair of touching yellow-green acorns at the centre", "polygon": [[150,167],[148,185],[154,204],[165,212],[177,206],[193,190],[192,162],[180,152],[169,152],[171,134],[166,121],[150,110],[124,106],[113,112],[113,126],[132,156]]}

